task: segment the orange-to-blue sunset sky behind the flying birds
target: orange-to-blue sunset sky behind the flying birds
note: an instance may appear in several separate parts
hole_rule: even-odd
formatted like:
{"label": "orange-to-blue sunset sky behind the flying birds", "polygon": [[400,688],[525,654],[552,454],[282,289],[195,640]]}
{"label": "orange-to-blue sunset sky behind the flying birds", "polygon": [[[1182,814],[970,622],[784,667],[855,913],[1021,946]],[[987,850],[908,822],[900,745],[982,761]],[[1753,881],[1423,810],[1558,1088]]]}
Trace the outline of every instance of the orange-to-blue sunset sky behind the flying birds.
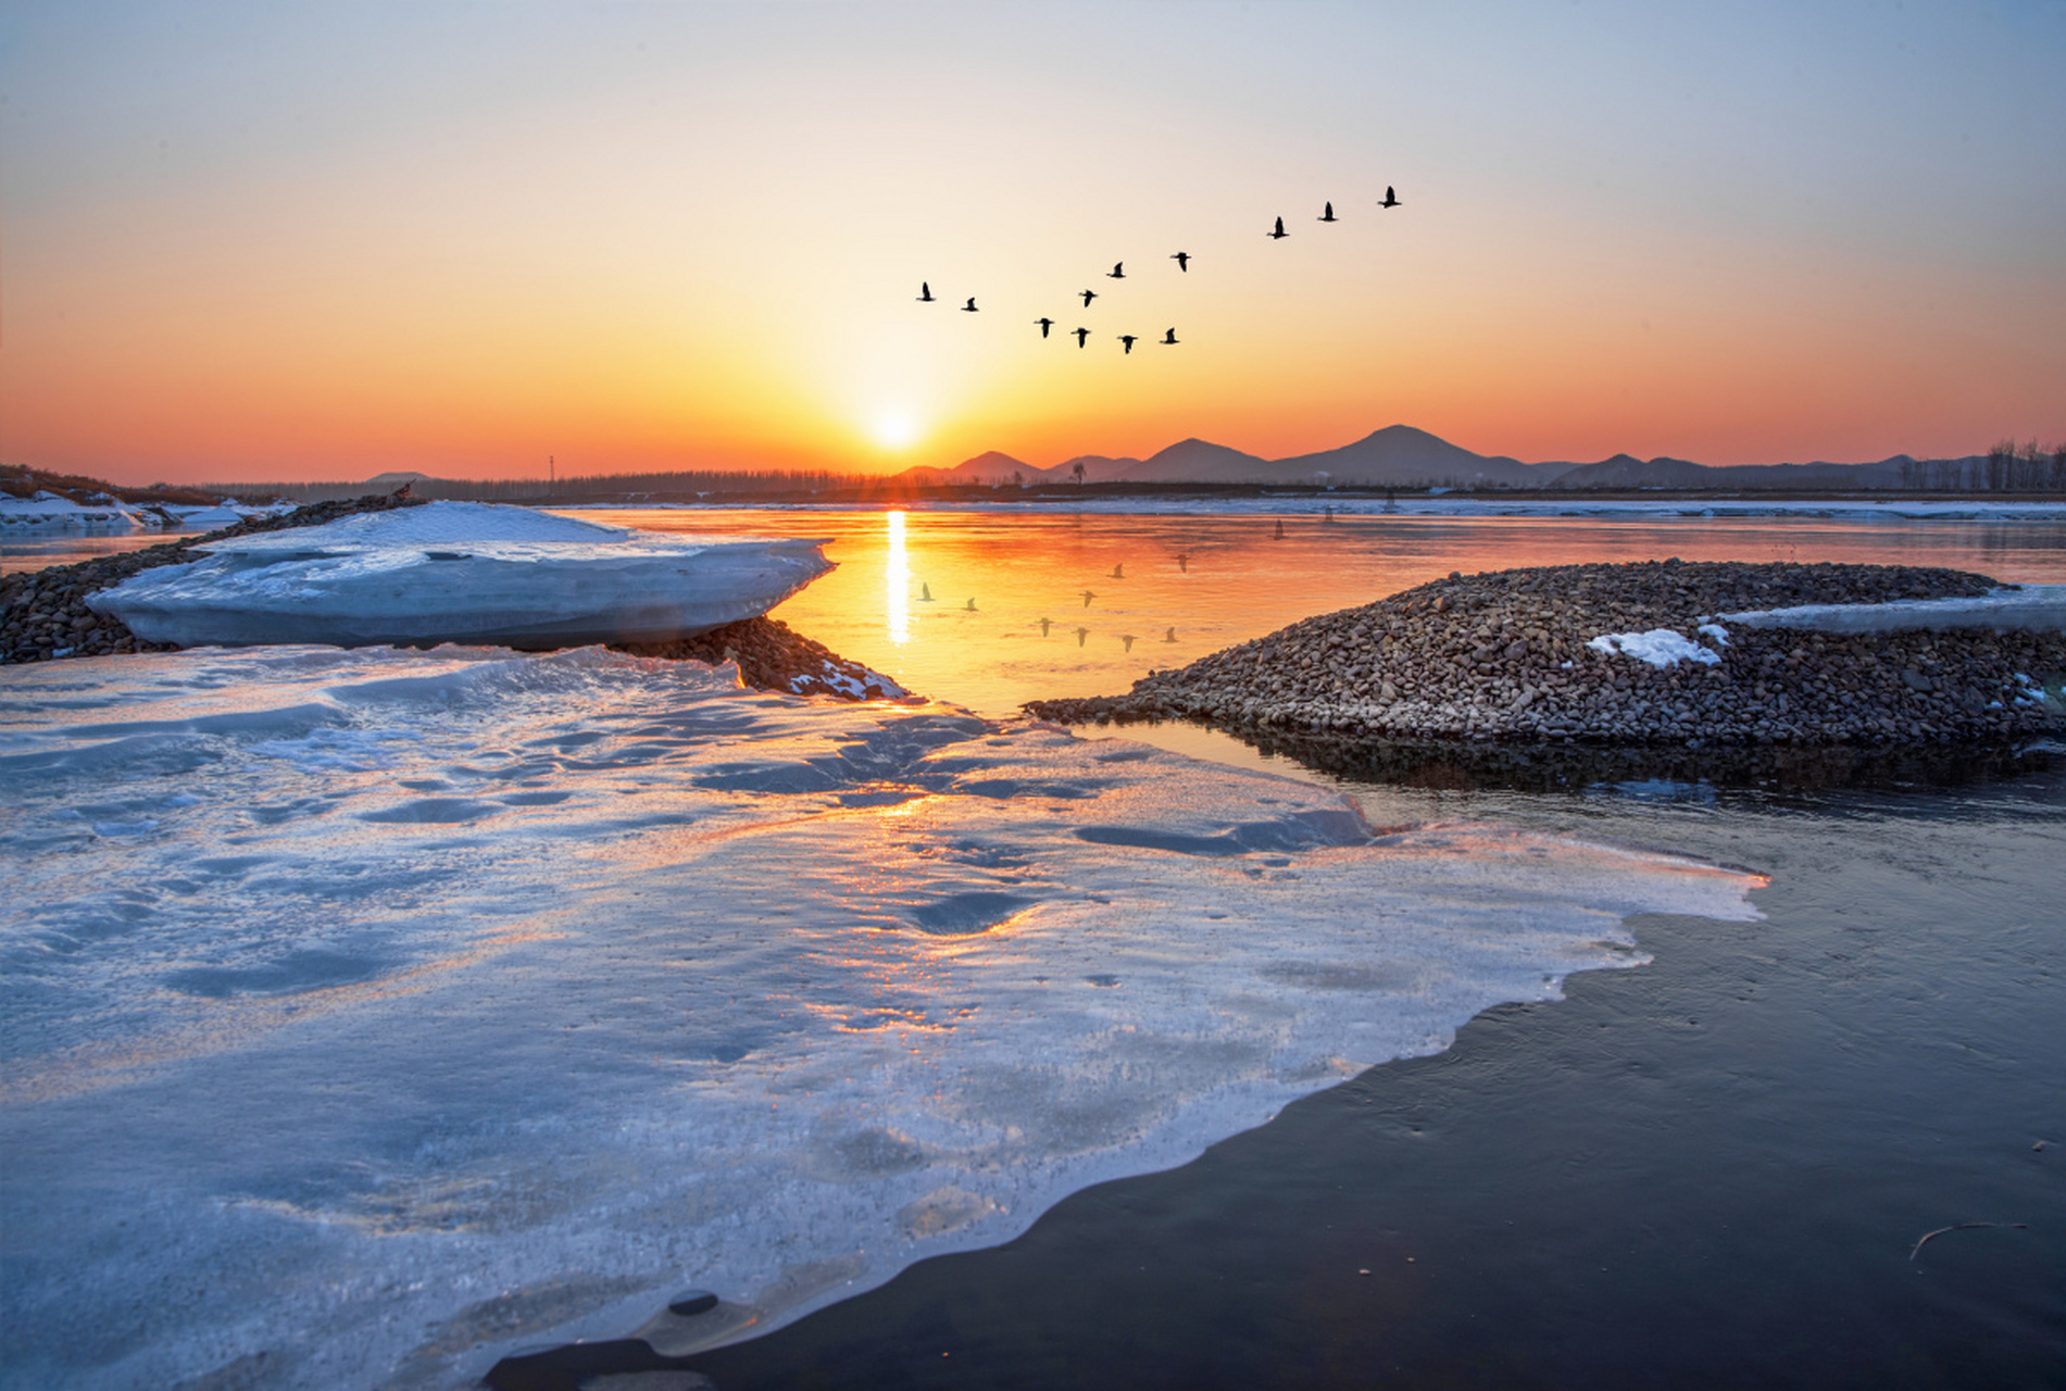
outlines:
{"label": "orange-to-blue sunset sky behind the flying birds", "polygon": [[2062,64],[2056,0],[10,4],[0,459],[2052,442]]}

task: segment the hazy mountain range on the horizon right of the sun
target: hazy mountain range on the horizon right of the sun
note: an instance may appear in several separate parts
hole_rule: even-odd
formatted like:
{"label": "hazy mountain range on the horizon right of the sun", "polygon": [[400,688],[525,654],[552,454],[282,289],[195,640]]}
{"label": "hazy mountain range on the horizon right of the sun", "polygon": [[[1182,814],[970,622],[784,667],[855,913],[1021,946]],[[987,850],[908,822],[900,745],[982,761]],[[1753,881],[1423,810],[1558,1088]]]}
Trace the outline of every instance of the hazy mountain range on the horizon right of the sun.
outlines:
{"label": "hazy mountain range on the horizon right of the sun", "polygon": [[1386,426],[1341,449],[1291,459],[1262,459],[1211,440],[1180,440],[1147,459],[1081,455],[1050,469],[990,451],[950,469],[919,465],[897,477],[921,486],[961,484],[1279,484],[1357,488],[1963,488],[1987,461],[1911,459],[1876,463],[1704,465],[1688,459],[1614,455],[1597,463],[1521,463],[1506,455],[1473,455],[1461,444]]}

